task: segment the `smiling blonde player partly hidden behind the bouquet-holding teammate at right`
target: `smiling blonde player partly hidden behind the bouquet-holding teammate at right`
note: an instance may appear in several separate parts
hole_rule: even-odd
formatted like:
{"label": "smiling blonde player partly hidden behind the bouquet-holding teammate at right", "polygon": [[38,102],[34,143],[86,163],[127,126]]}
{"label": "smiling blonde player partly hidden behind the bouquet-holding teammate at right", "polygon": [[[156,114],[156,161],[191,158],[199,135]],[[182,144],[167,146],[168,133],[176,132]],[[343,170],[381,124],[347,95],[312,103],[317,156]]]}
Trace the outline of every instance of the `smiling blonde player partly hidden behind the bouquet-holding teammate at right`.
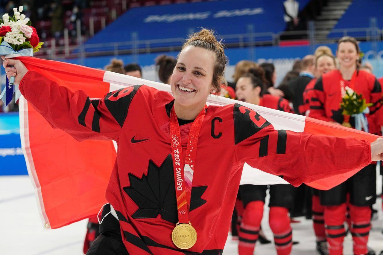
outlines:
{"label": "smiling blonde player partly hidden behind the bouquet-holding teammate at right", "polygon": [[[308,115],[310,111],[311,99],[313,97],[315,98],[315,93],[313,92],[313,89],[317,78],[320,78],[323,74],[326,74],[327,72],[336,68],[335,58],[329,47],[319,46],[315,50],[314,56],[316,78],[309,82],[303,93],[303,101],[304,108],[306,110],[306,115]],[[328,254],[328,248],[324,228],[324,206],[322,206],[319,201],[319,190],[313,188],[312,191],[313,196],[311,200],[311,211],[313,214],[313,228],[316,237],[316,250],[319,252],[319,254],[326,255]]]}

